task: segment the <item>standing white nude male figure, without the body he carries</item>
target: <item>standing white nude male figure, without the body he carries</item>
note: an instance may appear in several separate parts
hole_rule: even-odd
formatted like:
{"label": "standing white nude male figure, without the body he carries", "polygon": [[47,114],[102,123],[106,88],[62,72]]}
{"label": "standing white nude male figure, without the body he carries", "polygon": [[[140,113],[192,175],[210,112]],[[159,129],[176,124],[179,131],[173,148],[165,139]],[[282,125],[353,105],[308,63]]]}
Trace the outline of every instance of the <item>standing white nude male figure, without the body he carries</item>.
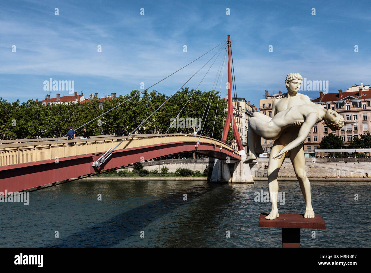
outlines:
{"label": "standing white nude male figure, without the body he carries", "polygon": [[[288,108],[291,108],[296,105],[315,105],[307,95],[298,93],[300,85],[302,83],[303,77],[299,73],[291,73],[286,77],[286,88],[287,94],[284,94],[281,98],[277,98],[273,101],[272,105],[272,114],[273,118],[275,114],[285,111]],[[294,126],[296,125],[296,127]],[[275,159],[273,156],[279,153],[287,144],[298,138],[299,130],[301,125],[300,121],[297,121],[293,126],[283,129],[282,134],[278,139],[275,140],[272,149],[270,150],[269,163],[268,163],[268,188],[270,199],[272,203],[272,211],[267,217],[268,220],[273,220],[276,217],[279,217],[278,208],[277,208],[277,198],[278,194],[278,172],[282,166],[285,156]],[[311,203],[311,184],[309,183],[308,178],[305,173],[305,159],[304,159],[304,150],[303,146],[299,145],[289,152],[285,153],[287,156],[290,156],[292,166],[294,168],[296,178],[298,178],[300,189],[304,196],[306,208],[305,208],[305,218],[314,218],[314,211]]]}

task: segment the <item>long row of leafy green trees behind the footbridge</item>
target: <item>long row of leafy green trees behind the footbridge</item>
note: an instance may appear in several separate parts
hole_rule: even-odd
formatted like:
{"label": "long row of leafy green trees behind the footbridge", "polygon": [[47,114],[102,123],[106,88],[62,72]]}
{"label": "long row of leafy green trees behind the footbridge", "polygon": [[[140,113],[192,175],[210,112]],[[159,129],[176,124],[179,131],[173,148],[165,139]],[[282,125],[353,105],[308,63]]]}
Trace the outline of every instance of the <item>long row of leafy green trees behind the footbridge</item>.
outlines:
{"label": "long row of leafy green trees behind the footbridge", "polygon": [[[202,92],[186,87],[169,99],[169,96],[155,90],[151,92],[146,90],[140,95],[138,90],[133,90],[127,95],[105,100],[103,109],[99,109],[98,99],[92,99],[89,103],[83,101],[77,104],[45,106],[33,100],[9,103],[0,98],[0,139],[62,137],[70,126],[76,129],[134,95],[136,95],[134,98],[87,124],[85,127],[91,135],[114,134],[118,127],[127,128],[130,133],[141,123],[143,124],[134,133],[162,134],[168,129],[168,133],[187,133],[194,128],[169,128],[171,118],[176,118],[185,105],[179,114],[180,118],[202,118],[200,126],[200,129],[203,129],[202,135],[221,139],[225,122],[223,116],[227,113],[224,112],[224,100],[219,99],[218,93],[214,90]],[[166,100],[168,101],[154,113]],[[77,130],[76,136],[81,136],[81,133],[82,129]],[[227,141],[229,140],[232,140],[231,129],[227,137]]]}

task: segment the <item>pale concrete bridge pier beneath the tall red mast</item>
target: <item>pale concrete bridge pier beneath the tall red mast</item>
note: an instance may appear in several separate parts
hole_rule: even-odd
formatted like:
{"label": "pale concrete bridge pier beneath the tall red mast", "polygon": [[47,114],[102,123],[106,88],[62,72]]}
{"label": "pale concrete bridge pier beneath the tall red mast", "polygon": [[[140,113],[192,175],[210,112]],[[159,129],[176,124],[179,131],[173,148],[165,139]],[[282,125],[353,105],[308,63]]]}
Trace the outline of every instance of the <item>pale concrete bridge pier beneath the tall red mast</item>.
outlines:
{"label": "pale concrete bridge pier beneath the tall red mast", "polygon": [[[238,161],[230,160],[230,162],[227,163],[226,160],[216,159],[210,182],[254,183],[249,164],[243,163],[246,159],[246,153],[244,150],[239,151],[239,153],[241,159]],[[229,165],[232,165],[231,169]]]}

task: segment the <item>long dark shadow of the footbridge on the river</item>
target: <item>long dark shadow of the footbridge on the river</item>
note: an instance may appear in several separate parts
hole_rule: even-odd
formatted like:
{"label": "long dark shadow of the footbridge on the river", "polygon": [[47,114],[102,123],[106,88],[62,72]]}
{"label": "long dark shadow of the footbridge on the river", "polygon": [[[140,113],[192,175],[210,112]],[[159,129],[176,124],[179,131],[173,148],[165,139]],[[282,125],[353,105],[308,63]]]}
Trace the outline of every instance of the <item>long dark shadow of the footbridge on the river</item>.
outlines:
{"label": "long dark shadow of the footbridge on the river", "polygon": [[[223,185],[209,185],[204,188],[189,188],[187,189],[187,195],[195,199],[209,191],[213,191],[214,188],[220,188],[222,186]],[[98,225],[84,228],[77,233],[69,235],[58,244],[52,244],[46,247],[115,246],[132,234],[139,234],[141,230],[156,219],[187,204],[183,201],[183,193],[184,191],[176,192],[164,198],[140,205],[122,214],[118,214],[109,220],[103,221]]]}

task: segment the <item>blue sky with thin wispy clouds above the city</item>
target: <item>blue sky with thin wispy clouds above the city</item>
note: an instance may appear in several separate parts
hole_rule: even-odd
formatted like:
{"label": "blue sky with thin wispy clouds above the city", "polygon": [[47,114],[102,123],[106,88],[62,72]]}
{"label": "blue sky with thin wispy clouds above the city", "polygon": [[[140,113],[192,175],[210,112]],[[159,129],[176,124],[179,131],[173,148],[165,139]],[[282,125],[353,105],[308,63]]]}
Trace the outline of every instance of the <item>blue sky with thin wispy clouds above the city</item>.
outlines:
{"label": "blue sky with thin wispy clouds above the city", "polygon": [[[75,81],[75,91],[85,97],[95,92],[99,97],[124,95],[139,90],[141,82],[150,87],[227,35],[232,40],[237,95],[257,106],[264,90],[285,92],[291,72],[329,81],[329,92],[345,91],[361,82],[371,84],[370,7],[369,1],[2,0],[0,97],[10,102],[43,100],[49,94],[43,82],[49,78]],[[355,45],[359,52],[354,52]],[[210,57],[209,53],[151,89],[173,94]],[[201,90],[212,89],[220,58]],[[197,87],[209,67],[185,86]],[[224,92],[225,71],[226,67]],[[319,96],[318,91],[303,93]]]}

